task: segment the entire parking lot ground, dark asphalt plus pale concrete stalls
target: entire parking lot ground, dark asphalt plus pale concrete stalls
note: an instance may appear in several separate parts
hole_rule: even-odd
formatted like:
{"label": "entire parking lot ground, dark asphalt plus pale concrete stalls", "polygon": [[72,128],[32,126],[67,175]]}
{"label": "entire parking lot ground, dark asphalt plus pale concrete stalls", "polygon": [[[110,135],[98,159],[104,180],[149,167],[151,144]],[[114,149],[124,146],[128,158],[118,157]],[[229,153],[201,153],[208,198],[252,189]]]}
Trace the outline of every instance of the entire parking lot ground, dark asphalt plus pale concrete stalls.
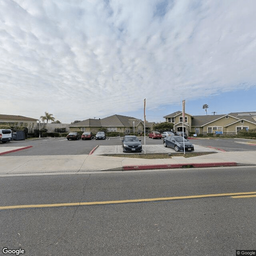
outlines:
{"label": "entire parking lot ground, dark asphalt plus pale concrete stalls", "polygon": [[[144,137],[139,137],[145,152]],[[41,138],[36,140],[18,140],[0,147],[32,146],[26,150],[9,153],[8,156],[45,156],[45,155],[82,155],[89,154],[98,146],[94,154],[123,154],[122,137],[107,137],[106,140],[67,140],[66,138]],[[194,139],[194,152],[205,151],[252,151],[256,150],[255,140],[243,139]],[[165,148],[163,139],[152,139],[146,137],[146,153],[172,153],[174,149]],[[130,153],[126,153],[130,154]],[[138,153],[134,153],[138,154]],[[7,155],[5,155],[7,156]]]}

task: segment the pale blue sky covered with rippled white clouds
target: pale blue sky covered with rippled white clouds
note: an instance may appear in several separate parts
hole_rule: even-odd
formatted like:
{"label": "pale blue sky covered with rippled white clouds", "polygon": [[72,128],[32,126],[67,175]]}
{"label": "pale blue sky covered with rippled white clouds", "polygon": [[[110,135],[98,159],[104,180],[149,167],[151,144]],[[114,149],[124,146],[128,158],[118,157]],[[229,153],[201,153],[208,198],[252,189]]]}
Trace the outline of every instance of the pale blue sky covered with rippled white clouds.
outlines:
{"label": "pale blue sky covered with rippled white clouds", "polygon": [[1,114],[256,111],[254,0],[0,0]]}

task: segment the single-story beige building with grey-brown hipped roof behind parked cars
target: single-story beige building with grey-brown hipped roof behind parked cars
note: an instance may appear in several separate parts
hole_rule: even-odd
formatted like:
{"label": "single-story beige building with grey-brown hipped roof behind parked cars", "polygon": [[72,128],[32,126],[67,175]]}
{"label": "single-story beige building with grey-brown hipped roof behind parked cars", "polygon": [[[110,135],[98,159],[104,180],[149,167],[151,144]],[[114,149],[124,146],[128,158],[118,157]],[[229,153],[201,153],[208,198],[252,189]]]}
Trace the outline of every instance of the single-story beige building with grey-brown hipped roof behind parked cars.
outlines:
{"label": "single-story beige building with grey-brown hipped roof behind parked cars", "polygon": [[[153,122],[146,123],[146,132],[152,129]],[[144,122],[131,116],[113,115],[102,119],[86,119],[69,126],[70,132],[97,133],[100,127],[107,128],[108,132],[144,132]]]}

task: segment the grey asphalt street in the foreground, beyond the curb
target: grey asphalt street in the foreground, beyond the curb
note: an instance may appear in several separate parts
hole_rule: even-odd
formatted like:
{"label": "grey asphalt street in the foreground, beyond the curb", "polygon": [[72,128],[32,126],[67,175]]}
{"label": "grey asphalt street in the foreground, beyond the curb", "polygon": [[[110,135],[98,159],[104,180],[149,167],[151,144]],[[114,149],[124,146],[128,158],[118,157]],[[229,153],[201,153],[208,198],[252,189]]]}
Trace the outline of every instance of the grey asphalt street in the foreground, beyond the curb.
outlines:
{"label": "grey asphalt street in the foreground, beyond the curb", "polygon": [[[0,210],[0,244],[38,256],[232,256],[256,250],[255,184],[249,166],[4,177],[0,206],[191,198]],[[242,192],[254,197],[220,195]]]}

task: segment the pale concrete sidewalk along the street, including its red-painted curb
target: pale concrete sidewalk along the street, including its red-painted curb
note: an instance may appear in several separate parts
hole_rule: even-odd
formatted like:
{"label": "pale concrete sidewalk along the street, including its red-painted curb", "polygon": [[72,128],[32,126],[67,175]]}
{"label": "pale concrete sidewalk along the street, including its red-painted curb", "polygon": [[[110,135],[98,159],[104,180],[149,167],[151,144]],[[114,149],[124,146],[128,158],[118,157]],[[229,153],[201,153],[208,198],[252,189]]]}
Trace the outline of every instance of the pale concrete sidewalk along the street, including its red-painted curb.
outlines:
{"label": "pale concrete sidewalk along the street, including its red-painted curb", "polygon": [[256,165],[256,152],[220,152],[204,156],[171,159],[139,159],[99,155],[0,156],[0,176],[79,174],[92,171],[170,169],[182,166]]}

